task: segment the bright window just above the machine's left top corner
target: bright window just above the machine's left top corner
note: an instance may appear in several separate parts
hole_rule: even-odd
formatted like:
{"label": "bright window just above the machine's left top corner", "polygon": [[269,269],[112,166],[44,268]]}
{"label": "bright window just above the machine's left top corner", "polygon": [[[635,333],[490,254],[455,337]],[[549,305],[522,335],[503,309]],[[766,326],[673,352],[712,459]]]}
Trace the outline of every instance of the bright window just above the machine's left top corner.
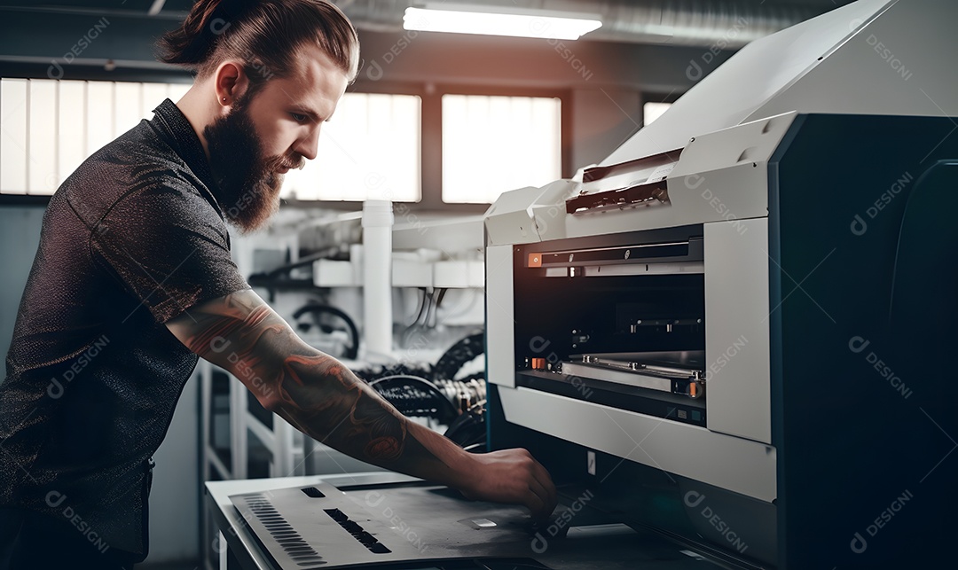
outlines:
{"label": "bright window just above the machine's left top corner", "polygon": [[490,203],[561,177],[561,102],[443,96],[443,201]]}

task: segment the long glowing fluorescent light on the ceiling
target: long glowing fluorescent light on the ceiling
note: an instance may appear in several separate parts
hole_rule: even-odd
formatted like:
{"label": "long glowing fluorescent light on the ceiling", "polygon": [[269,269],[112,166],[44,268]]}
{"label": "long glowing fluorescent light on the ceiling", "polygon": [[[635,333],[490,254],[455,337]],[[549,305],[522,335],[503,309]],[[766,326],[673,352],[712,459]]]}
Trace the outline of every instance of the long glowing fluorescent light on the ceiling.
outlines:
{"label": "long glowing fluorescent light on the ceiling", "polygon": [[579,39],[602,27],[599,18],[590,13],[443,3],[407,8],[402,23],[406,30],[420,32]]}

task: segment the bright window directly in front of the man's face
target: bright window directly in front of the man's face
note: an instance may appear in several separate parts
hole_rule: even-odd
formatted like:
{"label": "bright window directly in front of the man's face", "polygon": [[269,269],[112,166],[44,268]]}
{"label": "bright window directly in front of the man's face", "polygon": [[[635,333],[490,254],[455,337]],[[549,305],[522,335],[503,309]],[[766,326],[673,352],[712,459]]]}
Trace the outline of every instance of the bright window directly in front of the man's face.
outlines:
{"label": "bright window directly in front of the man's face", "polygon": [[286,173],[299,200],[418,202],[422,103],[413,95],[347,93],[323,125],[315,160]]}

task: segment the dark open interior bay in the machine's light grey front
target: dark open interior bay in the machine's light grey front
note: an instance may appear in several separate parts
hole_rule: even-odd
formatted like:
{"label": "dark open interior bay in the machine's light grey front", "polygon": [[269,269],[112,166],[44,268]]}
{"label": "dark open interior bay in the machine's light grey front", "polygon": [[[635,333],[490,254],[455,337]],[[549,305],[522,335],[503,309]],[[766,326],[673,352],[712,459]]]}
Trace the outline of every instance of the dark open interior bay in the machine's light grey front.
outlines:
{"label": "dark open interior bay in the machine's light grey front", "polygon": [[703,255],[700,225],[517,246],[516,384],[705,427]]}

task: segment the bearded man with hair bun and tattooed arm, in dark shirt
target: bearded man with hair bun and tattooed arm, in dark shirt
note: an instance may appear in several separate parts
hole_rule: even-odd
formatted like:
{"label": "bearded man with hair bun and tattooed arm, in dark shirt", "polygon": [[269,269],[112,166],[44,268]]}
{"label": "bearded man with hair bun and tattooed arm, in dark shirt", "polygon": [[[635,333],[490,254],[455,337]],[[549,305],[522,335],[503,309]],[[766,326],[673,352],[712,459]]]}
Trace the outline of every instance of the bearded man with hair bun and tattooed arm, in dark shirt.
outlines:
{"label": "bearded man with hair bun and tattooed arm, in dark shirt", "polygon": [[316,155],[358,41],[325,0],[200,0],[161,41],[192,89],[94,153],[44,217],[0,385],[0,567],[130,567],[149,459],[197,354],[304,433],[468,497],[551,513],[522,449],[469,454],[309,347],[230,260]]}

